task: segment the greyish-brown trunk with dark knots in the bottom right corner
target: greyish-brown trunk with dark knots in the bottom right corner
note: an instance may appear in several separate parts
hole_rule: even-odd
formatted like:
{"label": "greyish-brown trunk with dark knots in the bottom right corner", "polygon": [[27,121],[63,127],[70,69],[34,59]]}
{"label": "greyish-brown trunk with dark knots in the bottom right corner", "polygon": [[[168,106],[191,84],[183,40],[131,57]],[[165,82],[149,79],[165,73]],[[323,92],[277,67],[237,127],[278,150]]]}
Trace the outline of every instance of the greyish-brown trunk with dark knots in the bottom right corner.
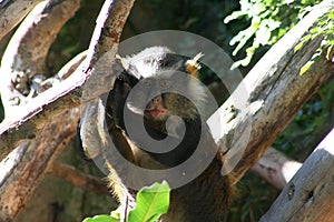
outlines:
{"label": "greyish-brown trunk with dark knots in the bottom right corner", "polygon": [[306,159],[261,221],[334,220],[334,130]]}

